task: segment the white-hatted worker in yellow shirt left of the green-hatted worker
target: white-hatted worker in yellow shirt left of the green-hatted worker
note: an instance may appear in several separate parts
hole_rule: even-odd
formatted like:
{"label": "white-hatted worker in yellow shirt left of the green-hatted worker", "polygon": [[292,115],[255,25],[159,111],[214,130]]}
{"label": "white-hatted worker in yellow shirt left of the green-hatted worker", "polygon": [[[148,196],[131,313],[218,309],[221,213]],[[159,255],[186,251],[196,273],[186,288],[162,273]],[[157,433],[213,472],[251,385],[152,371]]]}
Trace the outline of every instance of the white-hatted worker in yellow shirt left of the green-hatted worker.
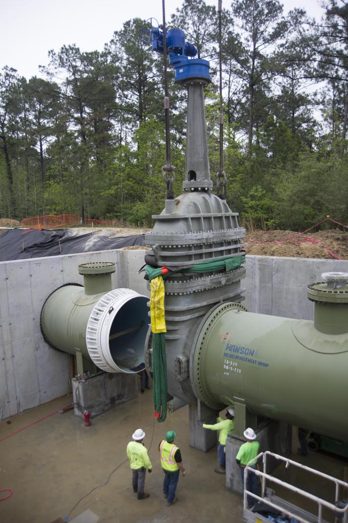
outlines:
{"label": "white-hatted worker in yellow shirt left of the green-hatted worker", "polygon": [[146,499],[149,497],[149,494],[144,492],[146,469],[151,472],[152,464],[143,444],[145,433],[141,428],[137,428],[132,438],[133,441],[127,445],[127,457],[132,469],[133,491],[137,492],[138,499]]}

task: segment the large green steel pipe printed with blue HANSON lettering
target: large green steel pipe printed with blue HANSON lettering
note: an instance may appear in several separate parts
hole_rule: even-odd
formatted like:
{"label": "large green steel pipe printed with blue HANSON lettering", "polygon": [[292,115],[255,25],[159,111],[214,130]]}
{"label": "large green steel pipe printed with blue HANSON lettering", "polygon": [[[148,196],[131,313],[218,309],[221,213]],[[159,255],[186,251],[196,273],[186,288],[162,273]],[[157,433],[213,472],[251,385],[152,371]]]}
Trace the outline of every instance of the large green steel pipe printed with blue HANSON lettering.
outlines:
{"label": "large green steel pipe printed with blue HANSON lettering", "polygon": [[347,441],[347,369],[348,334],[227,302],[202,322],[191,383],[211,408],[239,401],[256,414]]}

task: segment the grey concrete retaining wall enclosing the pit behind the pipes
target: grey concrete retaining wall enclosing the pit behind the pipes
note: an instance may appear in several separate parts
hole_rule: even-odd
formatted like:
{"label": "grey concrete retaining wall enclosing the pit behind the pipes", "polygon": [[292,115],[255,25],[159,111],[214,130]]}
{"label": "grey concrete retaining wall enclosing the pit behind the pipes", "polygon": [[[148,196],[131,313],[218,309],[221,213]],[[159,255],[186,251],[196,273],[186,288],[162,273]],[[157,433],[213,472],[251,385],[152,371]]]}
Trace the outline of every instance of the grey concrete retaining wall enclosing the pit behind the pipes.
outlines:
{"label": "grey concrete retaining wall enclosing the pit behind the pipes", "polygon": [[[40,332],[40,313],[48,295],[64,283],[81,283],[77,266],[89,261],[114,261],[114,288],[148,295],[144,251],[33,258],[0,263],[0,419],[22,412],[69,390],[69,356],[49,347]],[[321,272],[348,272],[348,261],[247,256],[245,306],[275,316],[312,318],[308,283]]]}

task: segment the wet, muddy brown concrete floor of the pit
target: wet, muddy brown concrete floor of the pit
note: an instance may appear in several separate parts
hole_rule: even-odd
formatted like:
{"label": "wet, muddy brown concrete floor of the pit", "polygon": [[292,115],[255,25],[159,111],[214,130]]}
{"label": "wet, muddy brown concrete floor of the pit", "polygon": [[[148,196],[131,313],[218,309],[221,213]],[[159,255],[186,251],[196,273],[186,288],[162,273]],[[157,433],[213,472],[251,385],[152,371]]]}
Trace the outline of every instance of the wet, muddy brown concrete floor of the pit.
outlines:
{"label": "wet, muddy brown concrete floor of the pit", "polygon": [[[70,401],[71,397],[64,396],[10,418],[11,424],[0,423],[0,438]],[[153,427],[151,391],[102,414],[92,420],[89,428],[74,411],[69,411],[1,441],[0,489],[11,488],[14,492],[0,503],[0,521],[50,523],[59,517],[64,519],[80,497],[107,481],[110,472],[126,459],[126,445],[139,427],[146,432],[148,448]],[[178,503],[170,507],[162,494],[163,472],[157,452],[159,441],[168,429],[177,432],[177,444],[187,470],[187,475],[179,480]],[[145,484],[146,492],[150,493],[148,499],[136,499],[129,464],[125,463],[106,486],[79,503],[69,520],[90,509],[99,516],[100,523],[241,522],[241,497],[226,491],[225,476],[214,473],[216,450],[204,454],[190,448],[188,440],[188,408],[184,407],[169,414],[165,423],[155,424],[149,453],[153,472],[146,475]],[[296,450],[296,439],[294,446]],[[321,454],[310,454],[306,459],[310,467],[337,477],[342,477],[346,465],[344,460]]]}

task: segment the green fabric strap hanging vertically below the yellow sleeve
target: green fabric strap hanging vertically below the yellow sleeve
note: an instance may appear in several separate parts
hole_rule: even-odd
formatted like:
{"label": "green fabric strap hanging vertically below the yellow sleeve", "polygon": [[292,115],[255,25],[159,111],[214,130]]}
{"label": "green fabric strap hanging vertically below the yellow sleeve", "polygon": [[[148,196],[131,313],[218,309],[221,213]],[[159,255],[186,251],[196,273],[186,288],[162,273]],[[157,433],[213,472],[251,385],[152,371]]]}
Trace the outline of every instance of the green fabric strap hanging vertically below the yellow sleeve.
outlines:
{"label": "green fabric strap hanging vertically below the yellow sleeve", "polygon": [[159,423],[167,417],[167,358],[165,333],[152,334],[153,399]]}

